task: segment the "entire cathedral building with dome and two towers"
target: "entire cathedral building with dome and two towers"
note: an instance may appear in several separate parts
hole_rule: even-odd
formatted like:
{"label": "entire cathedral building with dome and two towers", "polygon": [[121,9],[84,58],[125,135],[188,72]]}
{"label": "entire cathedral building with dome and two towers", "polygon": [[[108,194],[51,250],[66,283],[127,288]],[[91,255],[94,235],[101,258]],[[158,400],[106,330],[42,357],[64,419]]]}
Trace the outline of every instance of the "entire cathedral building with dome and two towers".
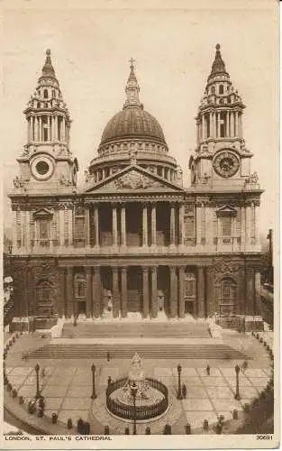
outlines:
{"label": "entire cathedral building with dome and two towers", "polygon": [[[259,198],[244,104],[216,45],[196,112],[190,187],[131,61],[124,104],[77,185],[71,119],[50,50],[24,110],[27,141],[9,192],[14,317],[259,315]],[[188,143],[187,143],[188,144]]]}

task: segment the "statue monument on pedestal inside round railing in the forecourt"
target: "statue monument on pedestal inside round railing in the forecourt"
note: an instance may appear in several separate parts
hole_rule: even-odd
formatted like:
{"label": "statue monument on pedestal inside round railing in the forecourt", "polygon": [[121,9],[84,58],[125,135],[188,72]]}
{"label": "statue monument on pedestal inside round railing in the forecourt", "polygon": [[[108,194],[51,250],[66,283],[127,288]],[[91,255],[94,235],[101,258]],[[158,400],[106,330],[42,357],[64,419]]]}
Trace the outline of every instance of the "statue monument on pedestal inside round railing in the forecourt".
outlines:
{"label": "statue monument on pedestal inside round railing in the forecourt", "polygon": [[[135,407],[132,386],[136,389]],[[168,410],[168,389],[156,379],[145,377],[141,357],[134,354],[127,377],[109,384],[106,390],[107,410],[119,419],[138,421],[157,419]]]}

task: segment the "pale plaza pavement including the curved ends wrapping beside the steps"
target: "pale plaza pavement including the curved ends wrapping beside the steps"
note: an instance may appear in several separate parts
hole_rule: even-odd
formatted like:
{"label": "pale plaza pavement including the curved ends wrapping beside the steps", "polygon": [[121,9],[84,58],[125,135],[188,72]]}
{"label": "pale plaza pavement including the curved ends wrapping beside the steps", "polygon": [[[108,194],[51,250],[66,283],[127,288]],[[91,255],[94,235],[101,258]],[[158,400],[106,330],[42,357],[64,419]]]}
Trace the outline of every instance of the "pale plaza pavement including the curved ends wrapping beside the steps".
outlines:
{"label": "pale plaza pavement including the curved ends wrapping beside the steps", "polygon": [[[169,409],[161,418],[155,421],[139,424],[137,432],[142,434],[150,426],[152,434],[161,434],[165,424],[172,427],[173,434],[183,434],[186,423],[193,429],[201,428],[204,419],[213,424],[220,415],[224,419],[232,418],[232,410],[242,410],[246,402],[259,395],[268,383],[271,371],[267,353],[258,341],[250,335],[241,336],[226,333],[224,341],[236,345],[242,352],[251,354],[252,360],[248,368],[240,373],[241,400],[234,400],[235,364],[242,361],[210,362],[211,373],[206,374],[206,364],[200,360],[144,360],[142,362],[145,374],[168,386]],[[13,387],[23,396],[25,403],[31,400],[36,391],[34,360],[23,362],[23,349],[32,349],[44,345],[48,339],[23,336],[13,345],[6,360],[6,373]],[[105,409],[105,388],[108,376],[117,379],[128,374],[131,368],[130,360],[119,359],[98,360],[96,364],[96,400],[91,400],[92,373],[90,365],[93,362],[82,360],[39,361],[45,369],[45,375],[40,378],[41,393],[46,401],[45,415],[57,413],[59,420],[66,423],[70,418],[73,423],[77,419],[90,422],[91,433],[103,433],[109,426],[111,433],[123,434],[127,423],[114,419]],[[182,365],[181,382],[186,384],[185,400],[177,400],[177,363]],[[131,425],[129,425],[132,428]],[[66,429],[67,432],[67,429]]]}

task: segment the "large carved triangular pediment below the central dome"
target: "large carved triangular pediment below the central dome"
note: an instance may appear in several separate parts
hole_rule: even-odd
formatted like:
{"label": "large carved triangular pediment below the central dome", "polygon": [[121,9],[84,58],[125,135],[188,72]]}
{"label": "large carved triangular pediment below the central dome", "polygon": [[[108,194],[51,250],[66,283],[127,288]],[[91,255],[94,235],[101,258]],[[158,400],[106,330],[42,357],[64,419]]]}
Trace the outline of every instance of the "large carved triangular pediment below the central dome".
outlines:
{"label": "large carved triangular pediment below the central dome", "polygon": [[180,192],[182,190],[168,180],[162,179],[139,166],[133,165],[96,183],[91,188],[86,189],[86,192]]}

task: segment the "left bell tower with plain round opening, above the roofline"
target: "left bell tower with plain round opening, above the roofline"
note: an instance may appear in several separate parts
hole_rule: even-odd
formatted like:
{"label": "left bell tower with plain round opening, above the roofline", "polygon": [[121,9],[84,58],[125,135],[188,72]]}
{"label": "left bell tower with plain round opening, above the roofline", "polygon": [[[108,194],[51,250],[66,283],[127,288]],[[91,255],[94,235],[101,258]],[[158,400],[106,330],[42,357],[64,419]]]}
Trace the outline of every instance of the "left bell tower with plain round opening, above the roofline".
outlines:
{"label": "left bell tower with plain round opening, above the roofline", "polygon": [[20,177],[14,188],[29,191],[69,191],[77,185],[77,159],[69,151],[71,120],[59,81],[46,51],[41,77],[24,110],[27,143],[17,159]]}

